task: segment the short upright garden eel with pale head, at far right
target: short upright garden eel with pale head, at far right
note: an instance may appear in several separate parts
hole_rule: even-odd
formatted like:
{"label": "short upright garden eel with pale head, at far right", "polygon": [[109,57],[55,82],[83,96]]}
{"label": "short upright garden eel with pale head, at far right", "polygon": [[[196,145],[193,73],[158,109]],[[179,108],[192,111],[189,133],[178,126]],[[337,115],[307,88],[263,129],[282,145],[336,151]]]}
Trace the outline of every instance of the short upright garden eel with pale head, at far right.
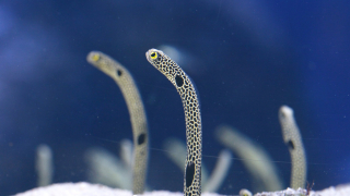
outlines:
{"label": "short upright garden eel with pale head, at far right", "polygon": [[292,159],[291,187],[305,188],[306,156],[302,143],[302,136],[293,117],[293,110],[282,106],[279,110],[279,120],[282,127],[283,140],[289,148]]}

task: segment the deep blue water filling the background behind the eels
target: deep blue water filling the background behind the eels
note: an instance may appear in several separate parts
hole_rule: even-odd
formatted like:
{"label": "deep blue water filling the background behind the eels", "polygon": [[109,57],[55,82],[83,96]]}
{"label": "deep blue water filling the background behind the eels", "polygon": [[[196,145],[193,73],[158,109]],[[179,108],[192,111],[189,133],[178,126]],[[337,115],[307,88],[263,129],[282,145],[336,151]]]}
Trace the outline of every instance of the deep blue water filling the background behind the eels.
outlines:
{"label": "deep blue water filling the background behind the eels", "polygon": [[[185,139],[180,98],[144,57],[170,45],[191,61],[180,66],[200,94],[203,154],[224,147],[226,123],[262,145],[285,185],[290,156],[278,109],[294,109],[315,189],[350,182],[350,2],[266,1],[0,1],[0,194],[36,186],[35,149],[55,156],[55,183],[86,181],[84,151],[118,152],[131,138],[116,84],[85,61],[91,50],[117,59],[135,76],[149,120],[148,184],[183,189],[164,139]],[[103,139],[101,139],[103,138]],[[217,159],[205,157],[212,170]],[[252,188],[234,160],[221,194]]]}

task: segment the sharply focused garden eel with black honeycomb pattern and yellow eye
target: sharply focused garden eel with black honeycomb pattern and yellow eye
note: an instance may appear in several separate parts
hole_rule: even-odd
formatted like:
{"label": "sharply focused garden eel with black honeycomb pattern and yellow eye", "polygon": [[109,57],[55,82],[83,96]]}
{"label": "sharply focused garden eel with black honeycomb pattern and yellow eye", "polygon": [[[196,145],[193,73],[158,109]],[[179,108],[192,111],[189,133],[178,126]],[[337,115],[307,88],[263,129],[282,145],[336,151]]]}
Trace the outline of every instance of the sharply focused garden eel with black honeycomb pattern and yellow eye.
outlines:
{"label": "sharply focused garden eel with black honeycomb pattern and yellow eye", "polygon": [[163,51],[150,49],[147,60],[176,87],[182,97],[186,120],[187,157],[185,161],[184,195],[201,195],[201,119],[194,84],[187,74]]}

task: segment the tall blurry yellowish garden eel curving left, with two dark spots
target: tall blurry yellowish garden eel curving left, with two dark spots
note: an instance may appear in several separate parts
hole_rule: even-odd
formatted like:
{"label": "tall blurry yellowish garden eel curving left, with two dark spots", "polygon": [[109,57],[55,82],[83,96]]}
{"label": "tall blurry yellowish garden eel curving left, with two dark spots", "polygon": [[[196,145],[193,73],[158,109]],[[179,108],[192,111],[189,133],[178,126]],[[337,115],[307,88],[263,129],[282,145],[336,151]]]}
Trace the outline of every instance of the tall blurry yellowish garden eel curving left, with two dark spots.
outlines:
{"label": "tall blurry yellowish garden eel curving left, with two dark spots", "polygon": [[127,102],[132,126],[135,159],[132,168],[132,193],[142,194],[148,163],[148,125],[140,93],[127,69],[100,51],[91,51],[88,62],[112,77],[119,86]]}

